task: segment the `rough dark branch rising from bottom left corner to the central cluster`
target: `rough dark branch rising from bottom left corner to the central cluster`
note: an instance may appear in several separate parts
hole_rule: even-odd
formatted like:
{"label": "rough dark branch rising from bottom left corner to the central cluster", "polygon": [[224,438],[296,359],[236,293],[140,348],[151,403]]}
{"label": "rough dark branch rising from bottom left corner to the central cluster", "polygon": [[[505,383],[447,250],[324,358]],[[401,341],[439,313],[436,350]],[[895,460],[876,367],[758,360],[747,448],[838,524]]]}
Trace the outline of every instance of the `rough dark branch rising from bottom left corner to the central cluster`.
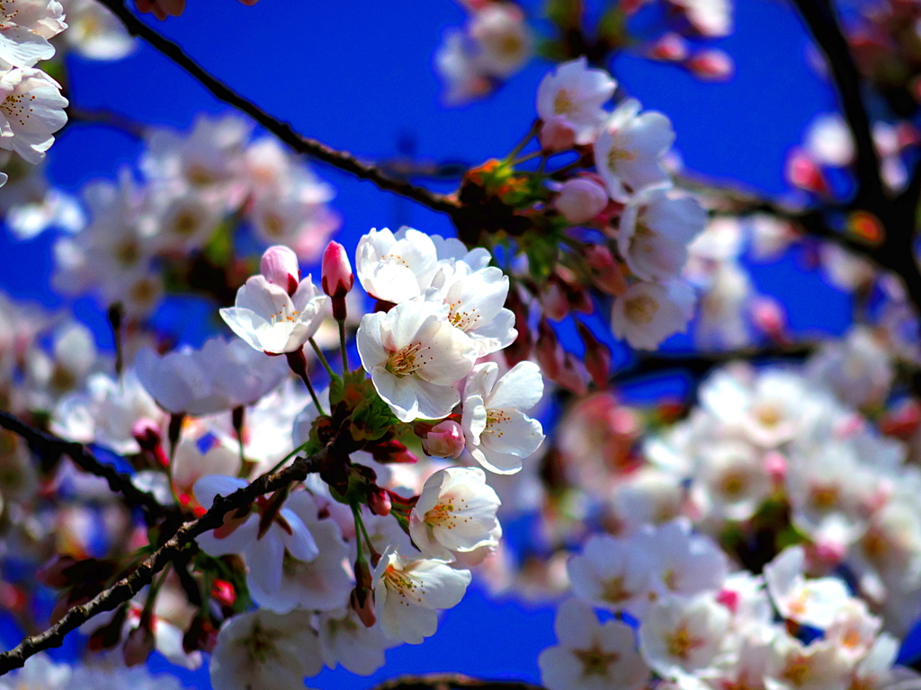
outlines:
{"label": "rough dark branch rising from bottom left corner to the central cluster", "polygon": [[15,649],[0,654],[0,675],[21,668],[29,657],[40,651],[60,647],[67,633],[76,630],[90,618],[105,611],[111,611],[120,604],[131,600],[137,592],[153,581],[154,576],[164,569],[174,558],[181,555],[183,549],[198,536],[221,526],[224,516],[231,511],[250,505],[259,496],[303,481],[312,472],[320,471],[326,465],[328,451],[307,458],[298,457],[291,465],[273,475],[262,475],[249,486],[234,491],[229,496],[218,496],[211,510],[205,512],[198,520],[183,524],[177,532],[147,558],[134,572],[116,582],[109,589],[99,592],[87,604],[75,606],[55,625],[39,635],[23,639]]}

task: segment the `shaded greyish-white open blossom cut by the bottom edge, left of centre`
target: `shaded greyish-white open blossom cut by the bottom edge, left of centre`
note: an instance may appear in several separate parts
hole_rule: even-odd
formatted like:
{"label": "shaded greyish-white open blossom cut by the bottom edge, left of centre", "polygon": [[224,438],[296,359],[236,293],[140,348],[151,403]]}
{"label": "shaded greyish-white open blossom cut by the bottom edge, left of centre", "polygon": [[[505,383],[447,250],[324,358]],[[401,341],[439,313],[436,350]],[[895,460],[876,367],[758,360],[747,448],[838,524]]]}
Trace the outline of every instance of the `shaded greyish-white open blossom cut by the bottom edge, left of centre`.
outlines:
{"label": "shaded greyish-white open blossom cut by the bottom edge, left of centre", "polygon": [[304,690],[304,676],[323,668],[311,617],[257,609],[228,618],[211,656],[211,683],[223,690]]}

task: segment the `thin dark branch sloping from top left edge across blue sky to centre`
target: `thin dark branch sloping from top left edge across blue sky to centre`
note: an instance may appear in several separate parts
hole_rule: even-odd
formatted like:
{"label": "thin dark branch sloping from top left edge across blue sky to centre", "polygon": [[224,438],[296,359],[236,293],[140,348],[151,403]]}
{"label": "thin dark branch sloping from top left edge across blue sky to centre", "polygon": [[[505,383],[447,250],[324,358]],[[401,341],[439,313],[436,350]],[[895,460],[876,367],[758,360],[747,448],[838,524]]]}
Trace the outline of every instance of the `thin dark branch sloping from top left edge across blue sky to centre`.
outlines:
{"label": "thin dark branch sloping from top left edge across blue sky to centre", "polygon": [[458,209],[458,202],[448,196],[418,187],[403,179],[392,178],[381,171],[379,167],[364,163],[347,151],[338,151],[331,146],[321,144],[316,139],[310,139],[298,134],[287,122],[277,120],[251,100],[243,98],[222,81],[216,79],[215,76],[206,72],[179,45],[165,39],[157,31],[151,29],[138,17],[134,16],[131,10],[124,5],[123,0],[99,0],[99,3],[108,7],[122,21],[129,33],[146,40],[153,48],[197,79],[216,98],[249,115],[254,121],[272,132],[297,153],[310,155],[317,160],[328,163],[332,167],[337,167],[354,175],[356,178],[373,182],[381,190],[391,191],[407,199],[417,201],[433,211],[451,214]]}

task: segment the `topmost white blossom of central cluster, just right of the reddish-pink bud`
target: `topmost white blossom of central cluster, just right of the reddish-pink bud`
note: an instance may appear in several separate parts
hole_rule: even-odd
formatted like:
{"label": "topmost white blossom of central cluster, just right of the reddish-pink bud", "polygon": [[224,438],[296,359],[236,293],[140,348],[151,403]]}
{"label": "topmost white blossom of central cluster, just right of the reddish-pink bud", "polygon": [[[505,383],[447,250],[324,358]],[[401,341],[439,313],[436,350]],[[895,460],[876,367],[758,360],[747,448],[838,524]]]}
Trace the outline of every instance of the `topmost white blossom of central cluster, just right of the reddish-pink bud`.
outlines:
{"label": "topmost white blossom of central cluster, just right of the reddish-pink bud", "polygon": [[398,305],[426,293],[437,260],[435,243],[425,233],[403,227],[394,235],[385,227],[358,240],[356,275],[365,292]]}

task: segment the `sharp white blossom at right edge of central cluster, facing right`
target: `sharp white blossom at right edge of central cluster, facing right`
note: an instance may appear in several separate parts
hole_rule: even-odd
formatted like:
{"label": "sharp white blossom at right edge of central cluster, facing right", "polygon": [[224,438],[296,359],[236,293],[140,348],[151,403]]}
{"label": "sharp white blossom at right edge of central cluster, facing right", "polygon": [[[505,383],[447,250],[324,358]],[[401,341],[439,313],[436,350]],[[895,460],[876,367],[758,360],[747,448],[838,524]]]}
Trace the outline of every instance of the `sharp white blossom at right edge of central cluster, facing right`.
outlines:
{"label": "sharp white blossom at right edge of central cluster, facing right", "polygon": [[543,443],[541,422],[522,410],[543,395],[543,377],[534,362],[519,362],[499,378],[495,362],[477,364],[464,385],[461,426],[467,450],[480,465],[500,475],[521,469],[521,460]]}

